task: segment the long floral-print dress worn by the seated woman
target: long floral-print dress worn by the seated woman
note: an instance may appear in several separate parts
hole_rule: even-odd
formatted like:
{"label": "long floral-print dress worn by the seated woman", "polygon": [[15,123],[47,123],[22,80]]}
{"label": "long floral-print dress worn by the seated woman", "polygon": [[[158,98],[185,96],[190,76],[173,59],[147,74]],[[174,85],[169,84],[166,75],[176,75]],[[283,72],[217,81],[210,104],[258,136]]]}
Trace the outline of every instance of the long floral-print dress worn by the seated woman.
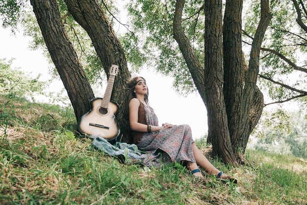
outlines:
{"label": "long floral-print dress worn by the seated woman", "polygon": [[[147,125],[159,126],[153,108],[144,104]],[[144,133],[143,137],[135,144],[146,152],[141,155],[141,160],[146,166],[158,167],[171,162],[196,162],[192,143],[192,131],[189,125],[179,125],[173,128],[161,129],[151,133]]]}

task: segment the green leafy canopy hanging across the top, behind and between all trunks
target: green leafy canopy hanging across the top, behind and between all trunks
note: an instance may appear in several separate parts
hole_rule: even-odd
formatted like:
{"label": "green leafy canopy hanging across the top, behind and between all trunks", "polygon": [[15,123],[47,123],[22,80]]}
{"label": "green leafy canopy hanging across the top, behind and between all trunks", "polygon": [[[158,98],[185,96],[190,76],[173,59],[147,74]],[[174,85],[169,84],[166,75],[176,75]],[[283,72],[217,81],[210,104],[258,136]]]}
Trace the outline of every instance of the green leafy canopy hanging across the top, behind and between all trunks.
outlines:
{"label": "green leafy canopy hanging across the top, behind and between all trunks", "polygon": [[[101,2],[102,9],[113,26],[122,25],[118,18],[121,7],[117,3],[122,4],[122,2],[117,1]],[[127,32],[123,35],[118,33],[118,36],[126,51],[126,57],[136,72],[145,67],[154,69],[164,75],[171,75],[174,78],[173,84],[177,92],[184,95],[195,91],[196,88],[178,45],[172,36],[175,3],[176,1],[129,1],[126,5],[129,17],[127,24],[129,26],[124,25],[128,28]],[[203,1],[198,0],[186,1],[182,16],[183,30],[190,39],[193,50],[201,64],[204,64],[205,60],[203,3]],[[92,84],[102,85],[105,81],[105,75],[90,38],[67,12],[64,1],[58,0],[58,5],[66,30],[87,77]],[[295,21],[297,14],[293,3],[291,1],[272,0],[270,5],[273,19],[268,32],[266,32],[263,47],[281,53],[293,63],[306,65],[304,59],[301,58],[302,54],[306,53],[304,40],[306,33]],[[31,48],[41,48],[45,51],[46,56],[49,56],[35,17],[29,9],[28,1],[4,0],[1,1],[0,8],[2,26],[10,26],[12,30],[15,30],[18,23],[22,22],[25,35],[33,37]],[[243,41],[247,42],[246,45],[250,44],[252,41],[250,36],[253,36],[256,32],[255,25],[260,18],[259,9],[259,0],[249,0],[244,3],[242,27],[248,34],[243,36]],[[305,19],[303,18],[303,22],[306,21]],[[51,69],[51,73],[53,77],[58,77],[54,68]],[[295,71],[274,52],[262,51],[260,74],[283,84],[289,83],[291,87],[306,90],[306,74]],[[259,83],[262,92],[267,92],[276,101],[297,95],[296,92],[266,79],[260,78]]]}

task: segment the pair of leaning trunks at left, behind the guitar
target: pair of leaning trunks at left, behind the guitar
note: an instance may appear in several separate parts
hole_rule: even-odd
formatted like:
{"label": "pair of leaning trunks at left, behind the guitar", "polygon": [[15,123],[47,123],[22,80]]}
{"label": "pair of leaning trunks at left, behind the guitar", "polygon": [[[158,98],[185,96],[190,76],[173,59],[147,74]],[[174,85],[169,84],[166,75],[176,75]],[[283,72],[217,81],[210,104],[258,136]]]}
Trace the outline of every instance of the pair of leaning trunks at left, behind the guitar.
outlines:
{"label": "pair of leaning trunks at left, behind the guitar", "polygon": [[[119,75],[114,83],[115,89],[112,92],[112,99],[122,105],[125,99],[125,90],[122,88],[125,87],[126,80],[130,75],[124,51],[101,6],[96,0],[90,2],[69,0],[66,1],[66,4],[69,12],[91,37],[105,73],[108,74],[112,64],[119,66]],[[79,119],[90,109],[89,101],[94,98],[94,94],[76,51],[67,36],[57,2],[56,0],[48,0],[47,2],[31,0],[31,5],[52,61],[67,90],[76,118]],[[124,118],[123,109],[121,113],[118,117],[119,123],[122,128],[127,128],[127,118]],[[128,136],[125,135],[125,138]]]}

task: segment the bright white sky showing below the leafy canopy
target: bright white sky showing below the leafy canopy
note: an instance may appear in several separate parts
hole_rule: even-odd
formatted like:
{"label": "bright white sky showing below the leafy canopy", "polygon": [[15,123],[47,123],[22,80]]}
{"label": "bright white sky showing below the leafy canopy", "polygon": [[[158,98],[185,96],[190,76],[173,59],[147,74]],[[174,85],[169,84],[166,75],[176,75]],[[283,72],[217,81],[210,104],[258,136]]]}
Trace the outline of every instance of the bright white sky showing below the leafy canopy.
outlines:
{"label": "bright white sky showing below the leafy canopy", "polygon": [[[41,74],[40,80],[47,81],[51,79],[48,61],[42,51],[28,49],[30,41],[31,38],[23,36],[22,33],[17,33],[14,36],[8,29],[0,27],[0,58],[6,58],[7,60],[15,58],[12,64],[13,68],[20,68],[27,73],[31,72],[33,77]],[[144,77],[147,81],[150,91],[150,105],[155,110],[160,125],[162,123],[171,123],[173,125],[188,124],[192,129],[194,139],[200,138],[207,133],[205,104],[198,93],[182,97],[172,87],[173,80],[171,77],[164,77],[147,70],[137,75]],[[58,92],[62,88],[64,88],[62,81],[54,80],[48,91]],[[67,93],[65,95],[67,96]]]}

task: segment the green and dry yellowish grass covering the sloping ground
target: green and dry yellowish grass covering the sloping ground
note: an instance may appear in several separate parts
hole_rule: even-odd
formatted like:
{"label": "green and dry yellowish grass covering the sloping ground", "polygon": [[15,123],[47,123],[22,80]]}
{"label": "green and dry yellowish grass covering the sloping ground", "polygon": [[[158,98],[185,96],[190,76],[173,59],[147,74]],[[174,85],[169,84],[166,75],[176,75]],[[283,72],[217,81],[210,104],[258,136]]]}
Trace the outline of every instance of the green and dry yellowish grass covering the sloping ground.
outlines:
{"label": "green and dry yellowish grass covering the sloping ground", "polygon": [[[209,158],[239,180],[229,185],[179,164],[122,164],[76,129],[71,108],[0,96],[0,204],[307,204],[306,159],[247,150],[234,168]],[[206,153],[203,139],[197,145]]]}

